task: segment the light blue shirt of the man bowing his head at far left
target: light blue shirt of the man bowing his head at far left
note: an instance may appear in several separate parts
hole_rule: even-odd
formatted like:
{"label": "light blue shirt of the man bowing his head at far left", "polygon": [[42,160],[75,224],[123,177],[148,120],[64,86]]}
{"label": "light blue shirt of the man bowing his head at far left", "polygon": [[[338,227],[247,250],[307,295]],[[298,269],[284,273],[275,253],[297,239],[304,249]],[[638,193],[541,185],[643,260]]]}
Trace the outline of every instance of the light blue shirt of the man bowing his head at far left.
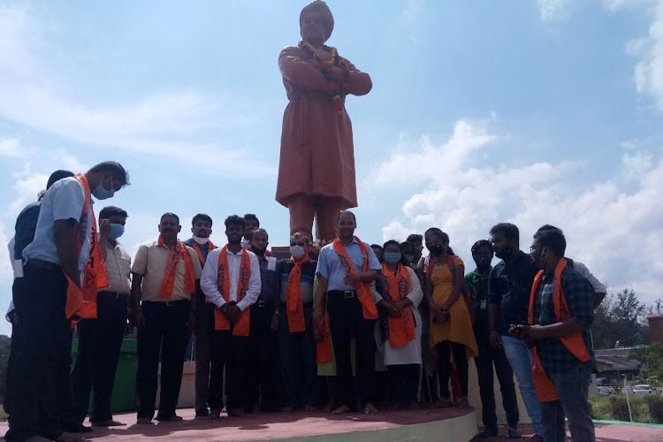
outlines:
{"label": "light blue shirt of the man bowing his head at far left", "polygon": [[[85,194],[79,180],[73,177],[60,179],[44,195],[42,209],[39,211],[34,240],[23,249],[23,259],[41,259],[60,264],[57,253],[53,225],[58,220],[72,219],[77,224],[83,212]],[[90,234],[92,223],[88,222],[88,232],[81,244],[78,268],[82,271],[90,254]]]}

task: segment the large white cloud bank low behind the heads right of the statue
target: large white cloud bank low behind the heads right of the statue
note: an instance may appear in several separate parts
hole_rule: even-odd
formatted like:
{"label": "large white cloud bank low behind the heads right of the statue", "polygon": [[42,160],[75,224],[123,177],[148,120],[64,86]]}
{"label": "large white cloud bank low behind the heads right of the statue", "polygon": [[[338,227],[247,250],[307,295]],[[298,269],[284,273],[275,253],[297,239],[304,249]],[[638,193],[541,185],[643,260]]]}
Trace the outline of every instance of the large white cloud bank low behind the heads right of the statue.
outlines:
{"label": "large white cloud bank low behind the heads right of the statue", "polygon": [[[454,251],[467,263],[470,245],[486,238],[498,222],[520,227],[522,249],[527,249],[540,225],[557,225],[567,235],[568,255],[586,263],[610,289],[632,287],[644,301],[660,296],[661,157],[631,149],[621,158],[621,173],[613,179],[577,187],[573,183],[581,168],[572,161],[527,164],[522,158],[525,164],[495,164],[491,149],[497,149],[499,137],[486,131],[483,123],[461,120],[449,141],[440,145],[427,137],[422,140],[400,147],[410,156],[396,152],[377,168],[391,171],[398,165],[405,176],[416,169],[425,177],[414,185],[399,183],[410,193],[402,201],[402,216],[385,220],[384,240],[404,239],[409,232],[437,225],[449,232]],[[433,158],[446,158],[444,174],[436,177],[425,171],[432,167],[424,164],[433,164],[425,161]],[[388,188],[385,181],[374,183],[375,193]],[[472,265],[470,261],[469,268]]]}

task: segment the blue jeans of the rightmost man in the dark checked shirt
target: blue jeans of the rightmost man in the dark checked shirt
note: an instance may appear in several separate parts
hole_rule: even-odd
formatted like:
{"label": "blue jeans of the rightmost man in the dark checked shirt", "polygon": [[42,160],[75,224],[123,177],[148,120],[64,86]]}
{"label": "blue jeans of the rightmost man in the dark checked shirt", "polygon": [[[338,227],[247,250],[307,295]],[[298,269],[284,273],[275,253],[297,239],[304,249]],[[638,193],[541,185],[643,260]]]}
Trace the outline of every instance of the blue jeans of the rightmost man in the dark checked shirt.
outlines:
{"label": "blue jeans of the rightmost man in the dark checked shirt", "polygon": [[578,363],[574,368],[549,375],[559,400],[541,403],[545,442],[564,442],[567,431],[564,416],[574,442],[593,442],[594,423],[591,422],[587,401],[591,368]]}

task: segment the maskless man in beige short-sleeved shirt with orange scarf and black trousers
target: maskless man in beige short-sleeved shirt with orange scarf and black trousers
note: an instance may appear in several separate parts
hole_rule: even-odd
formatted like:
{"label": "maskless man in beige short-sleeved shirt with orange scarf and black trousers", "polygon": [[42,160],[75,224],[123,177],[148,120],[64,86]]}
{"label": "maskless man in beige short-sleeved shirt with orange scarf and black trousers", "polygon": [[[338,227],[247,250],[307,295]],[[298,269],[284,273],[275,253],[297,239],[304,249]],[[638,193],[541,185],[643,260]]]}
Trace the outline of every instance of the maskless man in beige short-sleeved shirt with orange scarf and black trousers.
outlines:
{"label": "maskless man in beige short-sleeved shirt with orange scarf and black trousers", "polygon": [[150,423],[155,413],[156,378],[161,355],[161,394],[157,421],[179,421],[175,414],[182,382],[187,327],[194,323],[191,297],[201,263],[193,248],[178,240],[179,217],[164,213],[158,240],[142,245],[131,269],[133,324],[138,327],[140,407],[138,423]]}

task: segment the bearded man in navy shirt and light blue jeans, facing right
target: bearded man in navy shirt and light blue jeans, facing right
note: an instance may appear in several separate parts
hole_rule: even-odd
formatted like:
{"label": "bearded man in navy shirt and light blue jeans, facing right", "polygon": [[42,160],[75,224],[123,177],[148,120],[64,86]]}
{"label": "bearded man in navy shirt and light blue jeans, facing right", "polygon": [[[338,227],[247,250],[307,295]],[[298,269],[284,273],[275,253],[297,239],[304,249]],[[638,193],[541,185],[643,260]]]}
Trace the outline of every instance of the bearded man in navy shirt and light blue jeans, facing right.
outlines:
{"label": "bearded man in navy shirt and light blue jeans, facing right", "polygon": [[532,421],[535,432],[532,440],[542,440],[540,435],[544,429],[532,381],[530,348],[521,339],[508,334],[510,324],[527,324],[530,288],[537,269],[530,255],[520,250],[518,227],[500,223],[493,225],[490,233],[492,248],[502,261],[488,276],[488,339],[492,347],[504,349]]}

